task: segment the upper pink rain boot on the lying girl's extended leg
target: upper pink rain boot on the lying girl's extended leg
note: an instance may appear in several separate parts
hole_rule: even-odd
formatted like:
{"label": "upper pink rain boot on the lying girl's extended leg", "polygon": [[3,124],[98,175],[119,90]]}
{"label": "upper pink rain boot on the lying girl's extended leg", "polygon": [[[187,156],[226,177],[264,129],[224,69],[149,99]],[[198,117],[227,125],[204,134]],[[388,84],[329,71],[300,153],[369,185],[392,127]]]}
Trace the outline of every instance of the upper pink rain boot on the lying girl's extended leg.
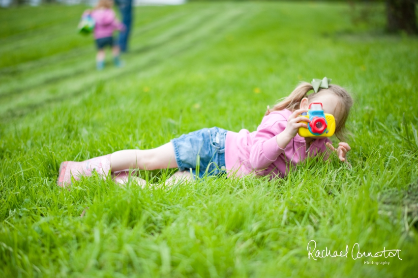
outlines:
{"label": "upper pink rain boot on the lying girl's extended leg", "polygon": [[60,165],[60,174],[57,184],[60,187],[71,185],[71,176],[79,180],[80,176],[91,176],[93,169],[99,175],[105,176],[110,170],[110,154],[95,157],[82,162],[64,161]]}

